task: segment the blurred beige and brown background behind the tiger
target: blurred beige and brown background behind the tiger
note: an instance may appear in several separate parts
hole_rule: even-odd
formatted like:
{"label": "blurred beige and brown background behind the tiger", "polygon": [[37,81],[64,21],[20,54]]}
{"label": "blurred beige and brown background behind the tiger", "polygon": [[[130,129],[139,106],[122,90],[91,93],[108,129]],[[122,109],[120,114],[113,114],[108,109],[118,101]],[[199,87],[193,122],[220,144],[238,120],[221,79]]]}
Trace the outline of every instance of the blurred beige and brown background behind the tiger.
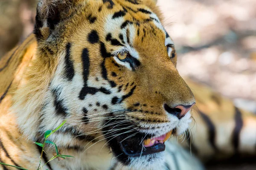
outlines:
{"label": "blurred beige and brown background behind the tiger", "polygon": [[[32,32],[36,3],[0,0],[0,57]],[[180,74],[256,113],[256,0],[158,0],[158,6]]]}

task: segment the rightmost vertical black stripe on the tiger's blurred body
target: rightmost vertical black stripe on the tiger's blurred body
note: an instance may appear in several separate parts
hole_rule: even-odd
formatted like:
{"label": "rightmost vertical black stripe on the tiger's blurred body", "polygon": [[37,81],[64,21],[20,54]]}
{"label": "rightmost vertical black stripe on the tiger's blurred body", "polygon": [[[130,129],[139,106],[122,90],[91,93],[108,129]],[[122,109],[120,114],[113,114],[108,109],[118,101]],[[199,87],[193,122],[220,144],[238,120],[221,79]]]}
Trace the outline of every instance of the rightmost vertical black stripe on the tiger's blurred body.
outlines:
{"label": "rightmost vertical black stripe on the tiger's blurred body", "polygon": [[243,119],[242,119],[242,115],[241,115],[241,111],[235,107],[235,128],[233,131],[233,138],[232,138],[232,143],[233,143],[233,147],[236,153],[238,153],[238,149],[239,149],[239,136],[240,136],[240,132],[242,130],[243,127]]}

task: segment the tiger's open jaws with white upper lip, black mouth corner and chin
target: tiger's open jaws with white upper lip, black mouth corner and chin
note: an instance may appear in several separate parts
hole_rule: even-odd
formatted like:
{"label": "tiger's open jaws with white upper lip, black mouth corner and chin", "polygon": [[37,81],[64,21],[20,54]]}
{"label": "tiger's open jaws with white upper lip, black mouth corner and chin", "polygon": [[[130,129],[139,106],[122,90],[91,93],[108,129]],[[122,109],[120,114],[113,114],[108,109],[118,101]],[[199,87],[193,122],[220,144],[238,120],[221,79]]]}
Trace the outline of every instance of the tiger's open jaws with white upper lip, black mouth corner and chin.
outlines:
{"label": "tiger's open jaws with white upper lip, black mouth corner and chin", "polygon": [[[152,125],[147,130],[141,129],[139,124],[123,119],[125,122],[123,125],[116,125],[115,119],[104,122],[106,126],[103,133],[111,152],[124,165],[131,164],[131,160],[135,161],[141,157],[152,160],[148,162],[151,164],[154,162],[153,160],[163,159],[165,142],[172,133],[176,134],[177,131],[180,131],[177,128],[182,127],[182,130],[186,130],[190,114],[177,121],[171,119],[170,122],[163,123],[158,130]],[[181,122],[181,124],[177,122]],[[157,127],[157,125],[154,126]]]}

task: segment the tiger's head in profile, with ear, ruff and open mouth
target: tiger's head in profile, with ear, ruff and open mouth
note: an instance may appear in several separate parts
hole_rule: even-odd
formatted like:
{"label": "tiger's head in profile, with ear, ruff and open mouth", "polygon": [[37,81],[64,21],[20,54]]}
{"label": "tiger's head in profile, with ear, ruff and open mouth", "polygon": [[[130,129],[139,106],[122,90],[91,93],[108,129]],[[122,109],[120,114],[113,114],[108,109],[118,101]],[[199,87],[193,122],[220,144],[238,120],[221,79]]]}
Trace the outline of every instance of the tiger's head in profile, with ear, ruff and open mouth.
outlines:
{"label": "tiger's head in profile, with ear, ruff and open mouth", "polygon": [[154,0],[39,0],[36,57],[14,97],[23,133],[40,141],[67,120],[50,136],[59,148],[95,145],[124,165],[162,166],[195,99],[158,11]]}

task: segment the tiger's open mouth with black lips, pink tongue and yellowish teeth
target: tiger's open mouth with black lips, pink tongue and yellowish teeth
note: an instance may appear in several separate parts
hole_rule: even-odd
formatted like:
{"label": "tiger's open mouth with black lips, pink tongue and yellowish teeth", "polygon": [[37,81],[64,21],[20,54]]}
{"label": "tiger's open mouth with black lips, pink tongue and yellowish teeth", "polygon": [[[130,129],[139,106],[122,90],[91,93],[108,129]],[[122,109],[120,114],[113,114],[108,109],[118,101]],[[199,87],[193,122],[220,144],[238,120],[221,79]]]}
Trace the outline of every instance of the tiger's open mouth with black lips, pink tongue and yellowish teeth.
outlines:
{"label": "tiger's open mouth with black lips, pink tongue and yellowish teeth", "polygon": [[[128,127],[126,125],[126,127]],[[105,139],[117,160],[123,164],[129,164],[131,157],[141,157],[149,154],[160,153],[165,150],[165,142],[169,139],[172,131],[157,137],[141,133],[131,129],[117,130],[110,134],[108,131],[114,131],[115,126],[105,128]],[[120,127],[119,127],[120,128]]]}

